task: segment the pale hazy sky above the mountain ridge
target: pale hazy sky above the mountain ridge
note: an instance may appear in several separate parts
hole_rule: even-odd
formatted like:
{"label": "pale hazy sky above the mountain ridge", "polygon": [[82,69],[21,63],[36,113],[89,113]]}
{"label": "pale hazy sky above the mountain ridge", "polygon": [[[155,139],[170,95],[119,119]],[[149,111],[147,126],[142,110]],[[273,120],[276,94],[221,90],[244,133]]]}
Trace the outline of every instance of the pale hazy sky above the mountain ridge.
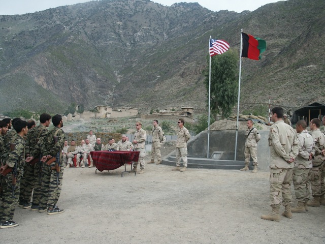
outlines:
{"label": "pale hazy sky above the mountain ridge", "polygon": [[[25,14],[42,11],[65,5],[90,2],[89,0],[0,0],[0,15]],[[155,3],[171,6],[174,3],[199,3],[212,11],[229,10],[238,13],[244,10],[253,11],[263,5],[278,2],[278,0],[153,0]]]}

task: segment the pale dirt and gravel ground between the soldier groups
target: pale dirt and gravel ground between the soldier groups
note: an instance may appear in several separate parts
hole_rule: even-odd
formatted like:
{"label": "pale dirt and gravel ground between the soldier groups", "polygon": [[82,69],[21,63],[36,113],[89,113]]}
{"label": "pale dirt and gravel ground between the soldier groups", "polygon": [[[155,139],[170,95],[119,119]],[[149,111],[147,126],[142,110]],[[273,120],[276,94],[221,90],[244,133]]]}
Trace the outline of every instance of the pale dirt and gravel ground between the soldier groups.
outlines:
{"label": "pale dirt and gravel ground between the soldier groups", "polygon": [[172,168],[147,164],[123,177],[124,167],[64,169],[65,211],[17,206],[19,226],[0,229],[0,243],[325,243],[325,206],[280,222],[260,218],[271,210],[268,172]]}

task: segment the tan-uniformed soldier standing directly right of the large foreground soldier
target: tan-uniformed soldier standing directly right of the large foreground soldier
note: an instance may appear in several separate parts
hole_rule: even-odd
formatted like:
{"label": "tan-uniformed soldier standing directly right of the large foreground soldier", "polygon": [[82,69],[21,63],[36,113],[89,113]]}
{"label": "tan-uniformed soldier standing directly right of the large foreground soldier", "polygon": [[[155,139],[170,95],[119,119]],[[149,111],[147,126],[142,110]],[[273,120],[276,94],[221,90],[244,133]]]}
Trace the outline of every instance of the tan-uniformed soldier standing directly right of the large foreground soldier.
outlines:
{"label": "tan-uniformed soldier standing directly right of the large foreground soldier", "polygon": [[295,195],[298,200],[297,207],[291,209],[291,212],[306,212],[309,198],[309,174],[312,169],[312,155],[314,154],[314,140],[306,130],[305,120],[299,120],[296,124],[298,133],[299,154],[294,161],[294,187]]}

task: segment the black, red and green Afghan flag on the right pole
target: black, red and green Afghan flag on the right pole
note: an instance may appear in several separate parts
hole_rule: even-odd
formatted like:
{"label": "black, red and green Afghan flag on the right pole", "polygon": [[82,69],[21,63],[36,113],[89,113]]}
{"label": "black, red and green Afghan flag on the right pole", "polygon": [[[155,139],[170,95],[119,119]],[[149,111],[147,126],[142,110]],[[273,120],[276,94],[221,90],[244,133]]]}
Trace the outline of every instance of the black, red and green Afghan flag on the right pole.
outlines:
{"label": "black, red and green Afghan flag on the right pole", "polygon": [[253,37],[242,32],[243,36],[243,50],[242,57],[248,57],[250,59],[259,60],[261,54],[266,49],[266,41],[261,38]]}

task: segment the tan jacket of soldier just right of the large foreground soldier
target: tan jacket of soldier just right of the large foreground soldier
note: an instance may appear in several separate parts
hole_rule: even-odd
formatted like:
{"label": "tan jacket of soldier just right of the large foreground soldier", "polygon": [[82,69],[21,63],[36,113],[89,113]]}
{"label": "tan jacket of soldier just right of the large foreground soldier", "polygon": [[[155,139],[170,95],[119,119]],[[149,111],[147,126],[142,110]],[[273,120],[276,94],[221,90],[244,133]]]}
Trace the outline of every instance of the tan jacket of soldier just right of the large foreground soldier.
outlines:
{"label": "tan jacket of soldier just right of the large foreground soldier", "polygon": [[309,160],[310,154],[315,154],[315,144],[312,136],[307,130],[303,130],[297,136],[299,145],[299,154],[294,161],[295,168],[311,169],[313,167],[312,161]]}

